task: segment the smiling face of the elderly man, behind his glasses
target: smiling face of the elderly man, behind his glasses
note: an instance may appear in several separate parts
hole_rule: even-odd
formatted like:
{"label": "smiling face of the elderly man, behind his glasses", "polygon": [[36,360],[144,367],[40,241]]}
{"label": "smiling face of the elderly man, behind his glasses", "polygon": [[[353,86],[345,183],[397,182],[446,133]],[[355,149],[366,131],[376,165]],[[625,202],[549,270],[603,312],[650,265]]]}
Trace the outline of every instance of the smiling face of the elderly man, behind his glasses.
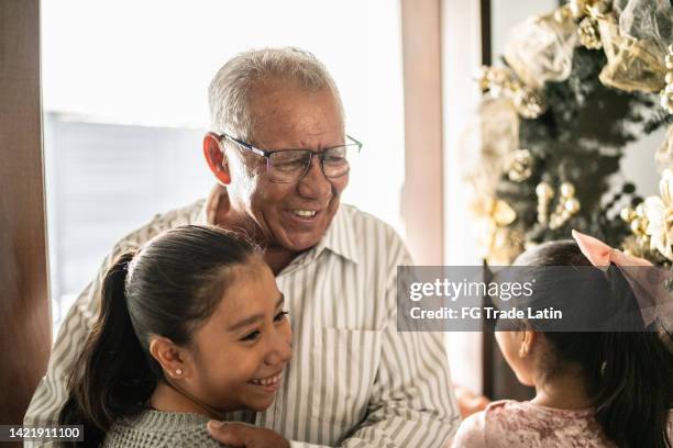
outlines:
{"label": "smiling face of the elderly man, behind his glasses", "polygon": [[[255,119],[249,143],[258,148],[320,152],[344,144],[340,103],[330,89],[311,91],[283,81],[257,85],[251,110]],[[254,222],[249,231],[267,247],[298,253],[317,245],[339,209],[349,175],[328,179],[313,157],[301,179],[278,183],[268,178],[263,157],[242,149],[228,154],[230,198]]]}

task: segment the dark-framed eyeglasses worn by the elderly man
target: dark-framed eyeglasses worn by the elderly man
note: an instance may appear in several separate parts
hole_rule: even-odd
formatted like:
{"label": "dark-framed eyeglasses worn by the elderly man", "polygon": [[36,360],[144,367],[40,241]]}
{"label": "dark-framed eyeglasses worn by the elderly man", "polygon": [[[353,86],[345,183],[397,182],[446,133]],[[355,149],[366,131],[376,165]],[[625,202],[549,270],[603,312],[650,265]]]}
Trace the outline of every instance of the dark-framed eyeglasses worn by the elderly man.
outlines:
{"label": "dark-framed eyeglasses worn by the elderly man", "polygon": [[351,170],[351,160],[362,149],[362,143],[346,135],[350,143],[331,146],[320,152],[311,149],[278,149],[265,150],[257,148],[242,139],[223,133],[218,139],[227,138],[241,148],[250,150],[266,159],[266,172],[273,182],[289,183],[301,179],[309,170],[313,157],[320,159],[322,172],[329,179],[345,176]]}

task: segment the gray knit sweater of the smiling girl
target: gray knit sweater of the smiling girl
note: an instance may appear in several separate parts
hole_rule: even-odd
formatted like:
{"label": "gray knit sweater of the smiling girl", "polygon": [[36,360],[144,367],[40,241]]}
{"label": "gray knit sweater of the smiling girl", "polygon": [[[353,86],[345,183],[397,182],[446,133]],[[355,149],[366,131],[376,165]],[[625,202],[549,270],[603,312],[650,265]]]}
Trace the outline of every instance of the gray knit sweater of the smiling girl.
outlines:
{"label": "gray knit sweater of the smiling girl", "polygon": [[206,429],[209,418],[200,414],[143,411],[114,423],[103,448],[221,447]]}

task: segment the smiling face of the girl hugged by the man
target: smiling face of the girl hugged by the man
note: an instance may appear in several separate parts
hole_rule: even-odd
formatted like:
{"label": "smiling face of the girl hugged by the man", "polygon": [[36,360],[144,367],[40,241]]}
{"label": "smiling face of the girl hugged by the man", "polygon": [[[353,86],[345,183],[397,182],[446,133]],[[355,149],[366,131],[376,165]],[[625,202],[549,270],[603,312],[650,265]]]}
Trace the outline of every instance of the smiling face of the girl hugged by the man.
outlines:
{"label": "smiling face of the girl hugged by the man", "polygon": [[264,411],[291,358],[285,300],[262,260],[231,269],[233,281],[194,334],[189,373],[181,385],[218,411]]}

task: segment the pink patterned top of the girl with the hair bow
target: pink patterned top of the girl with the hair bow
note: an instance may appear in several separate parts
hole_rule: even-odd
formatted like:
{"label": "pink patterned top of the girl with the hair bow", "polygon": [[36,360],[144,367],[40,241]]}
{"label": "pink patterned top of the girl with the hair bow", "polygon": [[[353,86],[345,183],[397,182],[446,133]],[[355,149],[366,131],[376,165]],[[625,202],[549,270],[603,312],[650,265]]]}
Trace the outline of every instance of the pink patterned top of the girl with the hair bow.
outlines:
{"label": "pink patterned top of the girl with the hair bow", "polygon": [[[453,448],[613,448],[594,410],[556,410],[504,400],[471,415],[460,426]],[[673,424],[669,421],[669,434]]]}

